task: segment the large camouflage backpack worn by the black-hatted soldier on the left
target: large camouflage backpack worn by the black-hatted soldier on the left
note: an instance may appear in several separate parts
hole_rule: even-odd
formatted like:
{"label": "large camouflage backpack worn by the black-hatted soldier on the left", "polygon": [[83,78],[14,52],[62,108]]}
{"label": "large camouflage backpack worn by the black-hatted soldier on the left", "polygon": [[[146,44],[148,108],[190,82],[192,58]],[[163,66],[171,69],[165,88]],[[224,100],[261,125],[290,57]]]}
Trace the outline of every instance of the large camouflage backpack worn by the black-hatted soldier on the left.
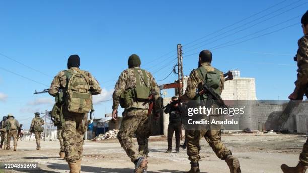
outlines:
{"label": "large camouflage backpack worn by the black-hatted soldier on the left", "polygon": [[67,84],[65,105],[69,112],[88,113],[92,108],[92,94],[89,92],[89,78],[80,70],[64,70]]}

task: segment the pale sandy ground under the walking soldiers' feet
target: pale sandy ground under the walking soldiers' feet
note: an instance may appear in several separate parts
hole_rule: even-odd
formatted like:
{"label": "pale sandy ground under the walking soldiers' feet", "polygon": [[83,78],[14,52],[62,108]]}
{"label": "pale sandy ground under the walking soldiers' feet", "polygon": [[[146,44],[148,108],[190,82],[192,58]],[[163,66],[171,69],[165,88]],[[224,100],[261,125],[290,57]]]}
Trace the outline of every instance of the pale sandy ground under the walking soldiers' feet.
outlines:
{"label": "pale sandy ground under the walking soldiers' feet", "polygon": [[[277,173],[280,165],[296,165],[306,141],[305,135],[277,134],[226,134],[223,142],[239,158],[242,172]],[[219,160],[205,140],[202,140],[200,169],[207,173],[230,172],[226,163]],[[0,151],[0,162],[38,162],[39,170],[5,172],[69,172],[67,163],[60,159],[59,142],[41,142],[42,149],[35,150],[35,141],[19,141],[17,151]],[[151,137],[148,172],[184,172],[190,169],[186,151],[165,153],[164,137]],[[103,142],[85,141],[82,172],[133,172],[130,162],[117,140]],[[0,170],[0,172],[2,172]]]}

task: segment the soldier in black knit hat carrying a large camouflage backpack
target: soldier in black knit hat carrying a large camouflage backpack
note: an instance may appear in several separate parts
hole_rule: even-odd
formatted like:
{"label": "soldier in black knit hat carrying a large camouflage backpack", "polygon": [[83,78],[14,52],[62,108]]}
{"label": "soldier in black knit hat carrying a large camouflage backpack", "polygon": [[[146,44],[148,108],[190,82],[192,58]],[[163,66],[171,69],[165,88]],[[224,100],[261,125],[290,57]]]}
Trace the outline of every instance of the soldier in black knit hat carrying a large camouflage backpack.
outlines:
{"label": "soldier in black knit hat carrying a large camouflage backpack", "polygon": [[81,170],[83,137],[87,130],[88,113],[93,109],[92,95],[102,91],[98,81],[88,71],[79,69],[79,66],[79,56],[71,55],[67,61],[68,69],[54,77],[48,91],[61,103],[65,160],[71,173]]}

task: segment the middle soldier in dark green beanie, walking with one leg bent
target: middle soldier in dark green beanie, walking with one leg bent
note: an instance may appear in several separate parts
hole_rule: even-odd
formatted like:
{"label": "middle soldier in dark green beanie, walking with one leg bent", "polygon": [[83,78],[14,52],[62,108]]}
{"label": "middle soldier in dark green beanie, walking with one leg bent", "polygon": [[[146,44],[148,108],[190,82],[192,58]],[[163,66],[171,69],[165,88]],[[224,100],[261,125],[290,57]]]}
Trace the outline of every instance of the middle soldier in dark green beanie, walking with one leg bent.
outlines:
{"label": "middle soldier in dark green beanie, walking with one leg bent", "polygon": [[[118,139],[135,164],[134,172],[146,172],[148,155],[148,138],[151,134],[151,116],[148,115],[151,104],[148,103],[149,95],[156,101],[156,108],[159,108],[159,88],[152,74],[140,68],[141,60],[138,55],[133,54],[128,58],[128,69],[124,70],[113,93],[112,117],[117,119],[119,104],[124,108],[123,120],[121,123]],[[159,116],[155,114],[155,119]],[[136,135],[137,148],[132,138]]]}

